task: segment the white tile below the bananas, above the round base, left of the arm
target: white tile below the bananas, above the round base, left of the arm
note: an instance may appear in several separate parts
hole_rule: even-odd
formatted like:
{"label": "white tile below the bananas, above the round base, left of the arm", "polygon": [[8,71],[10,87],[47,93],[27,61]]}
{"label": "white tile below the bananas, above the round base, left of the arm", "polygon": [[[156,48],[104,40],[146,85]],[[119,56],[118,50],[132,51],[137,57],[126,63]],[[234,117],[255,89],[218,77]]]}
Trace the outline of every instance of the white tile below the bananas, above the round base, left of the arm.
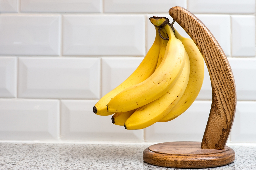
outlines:
{"label": "white tile below the bananas, above the round base, left of the arm", "polygon": [[211,101],[194,101],[183,114],[169,122],[157,122],[145,129],[147,141],[201,141]]}

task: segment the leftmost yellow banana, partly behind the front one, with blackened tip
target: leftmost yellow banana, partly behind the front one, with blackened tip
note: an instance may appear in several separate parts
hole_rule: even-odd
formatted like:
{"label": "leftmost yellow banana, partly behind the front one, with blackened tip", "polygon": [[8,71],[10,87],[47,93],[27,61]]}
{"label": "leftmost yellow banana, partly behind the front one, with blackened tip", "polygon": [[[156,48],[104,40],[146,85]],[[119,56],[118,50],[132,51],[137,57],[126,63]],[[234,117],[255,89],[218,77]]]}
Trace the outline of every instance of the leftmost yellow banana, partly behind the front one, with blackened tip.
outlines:
{"label": "leftmost yellow banana, partly behind the front one, with blackened tip", "polygon": [[158,56],[161,49],[161,37],[158,34],[158,28],[155,27],[155,29],[156,29],[156,38],[155,38],[154,44],[148,50],[147,55],[144,57],[144,59],[142,60],[138,68],[122,84],[120,84],[118,87],[116,87],[115,89],[110,91],[108,94],[103,96],[95,104],[95,106],[93,106],[93,112],[95,114],[102,115],[102,116],[108,116],[113,114],[112,112],[108,112],[106,104],[108,104],[108,102],[112,98],[114,98],[118,93],[120,93],[124,89],[146,80],[155,71],[157,61],[158,61]]}

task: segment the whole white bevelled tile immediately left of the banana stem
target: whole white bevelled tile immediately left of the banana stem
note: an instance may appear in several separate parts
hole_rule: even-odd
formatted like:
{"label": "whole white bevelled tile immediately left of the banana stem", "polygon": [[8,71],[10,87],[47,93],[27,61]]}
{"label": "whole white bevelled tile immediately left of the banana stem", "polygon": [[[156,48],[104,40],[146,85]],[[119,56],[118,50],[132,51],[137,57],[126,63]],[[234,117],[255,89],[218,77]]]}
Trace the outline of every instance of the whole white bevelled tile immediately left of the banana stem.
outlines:
{"label": "whole white bevelled tile immediately left of the banana stem", "polygon": [[145,55],[143,15],[64,15],[63,55]]}

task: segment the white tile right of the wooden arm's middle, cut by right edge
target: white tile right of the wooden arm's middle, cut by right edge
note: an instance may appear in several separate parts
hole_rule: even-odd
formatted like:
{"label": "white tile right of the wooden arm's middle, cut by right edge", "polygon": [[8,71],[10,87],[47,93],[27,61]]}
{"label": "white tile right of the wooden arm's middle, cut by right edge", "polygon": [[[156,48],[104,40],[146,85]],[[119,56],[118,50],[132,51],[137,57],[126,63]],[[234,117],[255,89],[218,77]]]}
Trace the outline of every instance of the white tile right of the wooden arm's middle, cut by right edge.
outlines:
{"label": "white tile right of the wooden arm's middle, cut by right edge", "polygon": [[256,100],[256,59],[228,58],[237,90],[237,100]]}

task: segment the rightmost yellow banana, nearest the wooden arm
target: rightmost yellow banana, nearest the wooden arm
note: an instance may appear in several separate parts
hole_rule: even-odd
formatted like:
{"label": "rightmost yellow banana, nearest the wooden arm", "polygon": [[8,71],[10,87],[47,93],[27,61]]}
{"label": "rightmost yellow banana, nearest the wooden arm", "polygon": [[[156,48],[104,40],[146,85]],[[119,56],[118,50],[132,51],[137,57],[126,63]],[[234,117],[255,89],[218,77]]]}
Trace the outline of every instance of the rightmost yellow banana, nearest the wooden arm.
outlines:
{"label": "rightmost yellow banana, nearest the wooden arm", "polygon": [[182,98],[179,100],[176,106],[159,122],[173,120],[180,114],[184,113],[195,101],[204,80],[204,59],[196,44],[193,40],[181,36],[177,30],[175,30],[175,36],[183,43],[189,56],[189,81]]}

